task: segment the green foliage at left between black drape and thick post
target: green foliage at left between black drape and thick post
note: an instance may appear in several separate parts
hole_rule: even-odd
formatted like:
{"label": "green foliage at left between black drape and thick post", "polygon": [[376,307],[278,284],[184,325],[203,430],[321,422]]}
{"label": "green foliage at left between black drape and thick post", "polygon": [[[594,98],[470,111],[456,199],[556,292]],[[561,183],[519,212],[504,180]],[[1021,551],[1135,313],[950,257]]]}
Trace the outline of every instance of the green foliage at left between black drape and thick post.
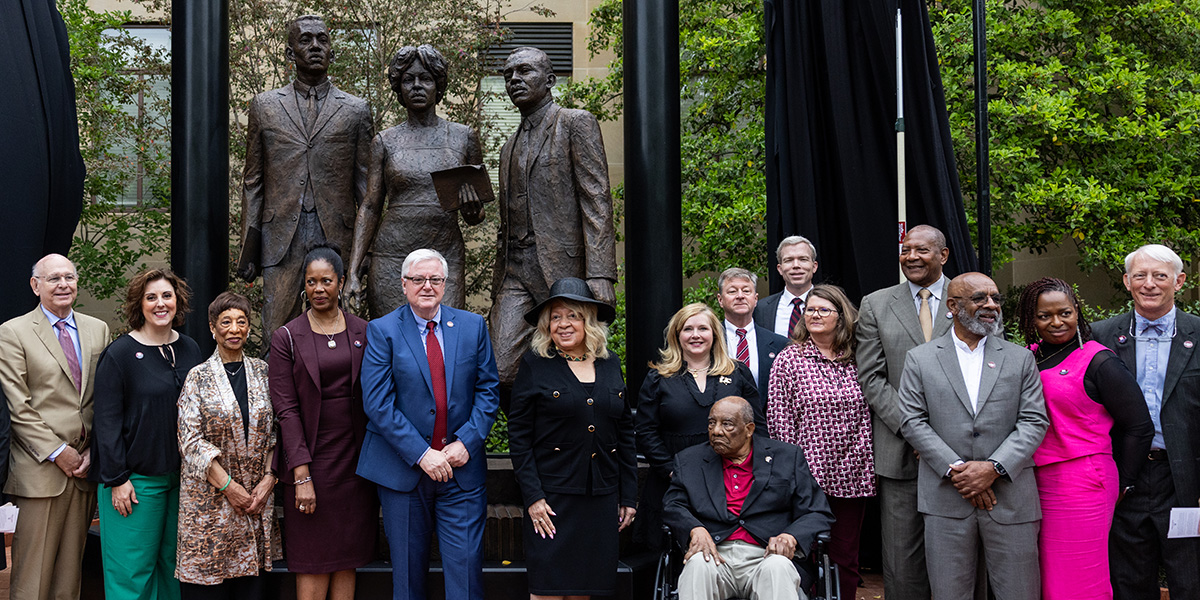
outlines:
{"label": "green foliage at left between black drape and thick post", "polygon": [[[127,12],[95,12],[85,0],[60,1],[59,10],[70,36],[79,148],[88,168],[71,258],[84,290],[96,299],[118,298],[148,257],[169,247],[170,97],[155,86],[168,76],[168,58],[120,29]],[[143,205],[119,204],[139,169]]]}

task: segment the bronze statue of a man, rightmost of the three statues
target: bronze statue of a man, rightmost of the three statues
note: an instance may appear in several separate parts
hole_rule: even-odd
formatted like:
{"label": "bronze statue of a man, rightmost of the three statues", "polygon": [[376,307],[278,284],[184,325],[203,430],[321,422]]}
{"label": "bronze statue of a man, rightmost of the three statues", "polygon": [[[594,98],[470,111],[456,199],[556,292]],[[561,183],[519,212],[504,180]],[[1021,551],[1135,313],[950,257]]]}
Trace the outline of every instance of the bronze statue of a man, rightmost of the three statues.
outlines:
{"label": "bronze statue of a man, rightmost of the three statues", "polygon": [[500,383],[511,385],[533,329],[524,313],[562,277],[580,277],[612,305],[617,251],[600,124],[562,108],[550,94],[554,72],[538,48],[504,64],[504,86],[521,127],[500,150],[500,230],[488,317]]}

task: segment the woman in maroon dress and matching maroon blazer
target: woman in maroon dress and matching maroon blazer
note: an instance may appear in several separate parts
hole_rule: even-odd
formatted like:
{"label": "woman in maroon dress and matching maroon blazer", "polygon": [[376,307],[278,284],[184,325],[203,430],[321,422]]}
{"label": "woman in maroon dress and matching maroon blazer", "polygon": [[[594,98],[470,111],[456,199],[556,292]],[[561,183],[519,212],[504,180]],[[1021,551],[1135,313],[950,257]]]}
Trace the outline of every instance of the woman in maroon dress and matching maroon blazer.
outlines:
{"label": "woman in maroon dress and matching maroon blazer", "polygon": [[367,323],[340,307],[341,253],[318,246],[304,269],[312,307],[275,331],[269,367],[286,558],[300,600],[353,600],[355,569],[371,562],[379,529],[374,485],[354,473],[367,424]]}

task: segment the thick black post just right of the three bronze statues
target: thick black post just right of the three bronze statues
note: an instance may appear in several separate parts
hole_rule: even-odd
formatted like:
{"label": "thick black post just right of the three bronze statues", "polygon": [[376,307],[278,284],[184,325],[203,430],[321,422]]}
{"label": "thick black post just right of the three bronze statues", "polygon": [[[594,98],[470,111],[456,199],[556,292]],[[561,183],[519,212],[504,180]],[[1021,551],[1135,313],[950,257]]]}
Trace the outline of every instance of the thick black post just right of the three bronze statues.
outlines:
{"label": "thick black post just right of the three bronze statues", "polygon": [[679,1],[625,0],[625,378],[637,390],[683,304]]}

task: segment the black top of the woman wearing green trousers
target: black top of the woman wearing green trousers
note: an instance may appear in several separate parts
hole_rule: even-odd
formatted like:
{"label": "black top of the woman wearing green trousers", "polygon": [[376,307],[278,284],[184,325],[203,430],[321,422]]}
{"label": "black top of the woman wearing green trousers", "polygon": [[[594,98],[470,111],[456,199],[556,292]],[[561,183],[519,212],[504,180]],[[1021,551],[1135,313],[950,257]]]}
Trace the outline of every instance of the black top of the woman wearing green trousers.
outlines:
{"label": "black top of the woman wearing green trousers", "polygon": [[199,346],[185,335],[158,347],[126,334],[104,348],[92,396],[90,479],[113,487],[131,473],[179,470],[179,390],[187,372],[202,361]]}

